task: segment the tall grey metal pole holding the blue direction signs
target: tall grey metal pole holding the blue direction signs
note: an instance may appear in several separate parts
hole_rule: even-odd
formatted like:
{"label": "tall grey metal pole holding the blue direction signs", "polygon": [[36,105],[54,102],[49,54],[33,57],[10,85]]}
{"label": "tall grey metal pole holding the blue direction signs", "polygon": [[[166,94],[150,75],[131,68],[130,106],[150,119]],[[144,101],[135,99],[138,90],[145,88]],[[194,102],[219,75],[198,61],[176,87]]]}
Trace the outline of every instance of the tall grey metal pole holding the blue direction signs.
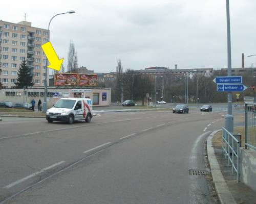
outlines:
{"label": "tall grey metal pole holding the blue direction signs", "polygon": [[[227,15],[227,76],[231,77],[231,43],[230,43],[230,18],[229,18],[229,0],[226,0],[226,15]],[[227,93],[227,115],[225,116],[225,129],[230,133],[233,132],[233,115],[232,115],[232,94]]]}

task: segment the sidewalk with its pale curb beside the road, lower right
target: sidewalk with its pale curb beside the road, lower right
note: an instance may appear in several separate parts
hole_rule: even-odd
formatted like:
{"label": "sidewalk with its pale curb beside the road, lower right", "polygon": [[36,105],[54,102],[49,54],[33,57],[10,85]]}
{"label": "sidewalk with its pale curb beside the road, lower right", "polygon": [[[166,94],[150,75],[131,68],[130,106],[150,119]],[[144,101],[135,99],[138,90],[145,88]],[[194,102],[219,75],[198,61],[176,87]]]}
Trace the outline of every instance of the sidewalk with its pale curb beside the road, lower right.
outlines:
{"label": "sidewalk with its pale curb beside the road, lower right", "polygon": [[222,203],[256,204],[256,192],[243,183],[237,183],[236,174],[232,174],[227,165],[221,150],[221,132],[209,136],[207,152],[212,177]]}

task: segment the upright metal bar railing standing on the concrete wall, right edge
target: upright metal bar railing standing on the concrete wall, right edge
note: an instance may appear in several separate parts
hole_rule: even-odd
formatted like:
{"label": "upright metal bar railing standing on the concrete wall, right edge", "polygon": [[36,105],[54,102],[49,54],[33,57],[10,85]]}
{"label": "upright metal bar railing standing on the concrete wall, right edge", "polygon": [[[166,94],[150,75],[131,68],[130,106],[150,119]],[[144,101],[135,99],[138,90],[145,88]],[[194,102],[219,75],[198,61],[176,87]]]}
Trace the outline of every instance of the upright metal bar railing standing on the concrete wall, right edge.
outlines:
{"label": "upright metal bar railing standing on the concrete wall, right edge", "polygon": [[245,103],[245,148],[256,150],[256,103]]}

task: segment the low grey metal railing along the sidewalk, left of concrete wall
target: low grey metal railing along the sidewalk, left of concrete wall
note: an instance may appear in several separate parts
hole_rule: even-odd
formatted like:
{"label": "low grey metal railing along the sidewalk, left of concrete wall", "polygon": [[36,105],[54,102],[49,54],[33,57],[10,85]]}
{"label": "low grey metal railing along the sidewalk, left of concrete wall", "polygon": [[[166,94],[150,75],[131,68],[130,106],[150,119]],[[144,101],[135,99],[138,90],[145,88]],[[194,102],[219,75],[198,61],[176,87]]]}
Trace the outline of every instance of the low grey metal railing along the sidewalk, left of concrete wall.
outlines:
{"label": "low grey metal railing along the sidewalk, left of concrete wall", "polygon": [[228,165],[231,163],[232,173],[237,173],[237,182],[239,182],[239,160],[240,160],[240,142],[224,127],[222,127],[222,153],[227,159]]}

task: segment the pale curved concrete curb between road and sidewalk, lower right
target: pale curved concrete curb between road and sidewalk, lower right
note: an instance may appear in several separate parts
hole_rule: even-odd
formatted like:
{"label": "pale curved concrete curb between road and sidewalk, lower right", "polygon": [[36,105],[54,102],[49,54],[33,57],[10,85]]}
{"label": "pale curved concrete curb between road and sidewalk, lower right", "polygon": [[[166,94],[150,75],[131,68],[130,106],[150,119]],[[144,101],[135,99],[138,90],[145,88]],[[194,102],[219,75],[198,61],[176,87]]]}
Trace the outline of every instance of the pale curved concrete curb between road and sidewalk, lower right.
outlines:
{"label": "pale curved concrete curb between road and sidewalk, lower right", "polygon": [[225,204],[235,204],[237,203],[236,200],[234,200],[231,192],[228,189],[228,186],[224,180],[224,177],[222,175],[220,165],[218,163],[218,160],[215,156],[214,147],[212,147],[212,137],[221,130],[217,130],[212,132],[209,137],[207,138],[207,154],[208,154],[208,160],[210,164],[210,171],[212,175],[212,180],[214,181],[215,189],[218,194],[218,197],[220,199],[221,203]]}

